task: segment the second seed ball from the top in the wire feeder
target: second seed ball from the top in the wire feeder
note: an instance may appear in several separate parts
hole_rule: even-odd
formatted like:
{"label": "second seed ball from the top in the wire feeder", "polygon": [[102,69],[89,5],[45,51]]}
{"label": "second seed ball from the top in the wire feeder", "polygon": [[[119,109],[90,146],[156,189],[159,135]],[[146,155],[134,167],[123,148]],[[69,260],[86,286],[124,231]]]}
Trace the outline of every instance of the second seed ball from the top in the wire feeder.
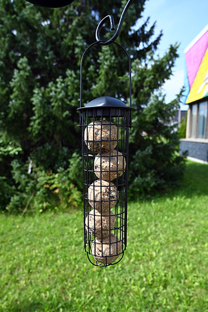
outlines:
{"label": "second seed ball from the top in the wire feeder", "polygon": [[112,150],[95,157],[94,170],[98,178],[112,181],[120,177],[126,168],[126,160],[122,153]]}

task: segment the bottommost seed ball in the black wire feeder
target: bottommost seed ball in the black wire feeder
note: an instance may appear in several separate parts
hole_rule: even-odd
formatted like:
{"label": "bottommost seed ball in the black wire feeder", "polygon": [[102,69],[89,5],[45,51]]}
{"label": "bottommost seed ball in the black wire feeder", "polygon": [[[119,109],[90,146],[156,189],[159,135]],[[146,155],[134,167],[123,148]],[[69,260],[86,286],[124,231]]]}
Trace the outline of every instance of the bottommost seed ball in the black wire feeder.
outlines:
{"label": "bottommost seed ball in the black wire feeder", "polygon": [[92,255],[102,263],[112,263],[122,252],[122,243],[117,236],[111,233],[103,240],[96,238],[92,244]]}

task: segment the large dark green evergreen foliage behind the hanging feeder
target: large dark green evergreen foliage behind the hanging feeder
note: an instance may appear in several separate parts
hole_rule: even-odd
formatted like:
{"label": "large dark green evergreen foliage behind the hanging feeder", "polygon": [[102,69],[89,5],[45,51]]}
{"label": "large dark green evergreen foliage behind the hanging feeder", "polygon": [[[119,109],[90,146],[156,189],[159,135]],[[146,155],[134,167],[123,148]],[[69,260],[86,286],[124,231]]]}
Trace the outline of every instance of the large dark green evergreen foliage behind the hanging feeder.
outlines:
{"label": "large dark green evergreen foliage behind the hanging feeder", "polygon": [[[79,114],[81,55],[95,41],[98,22],[125,0],[75,0],[50,9],[24,0],[0,0],[0,208],[15,211],[80,204],[82,165]],[[155,52],[162,32],[141,24],[145,0],[135,0],[117,42],[132,58],[136,111],[130,135],[130,193],[146,194],[180,180],[183,158],[168,126],[180,101],[158,94],[171,76],[177,45]],[[134,28],[133,28],[134,26]],[[101,36],[112,36],[106,23]],[[103,37],[102,37],[103,39]],[[115,45],[86,56],[83,103],[109,95],[129,101],[127,65]],[[145,135],[144,135],[145,133]],[[180,174],[178,174],[178,172]]]}

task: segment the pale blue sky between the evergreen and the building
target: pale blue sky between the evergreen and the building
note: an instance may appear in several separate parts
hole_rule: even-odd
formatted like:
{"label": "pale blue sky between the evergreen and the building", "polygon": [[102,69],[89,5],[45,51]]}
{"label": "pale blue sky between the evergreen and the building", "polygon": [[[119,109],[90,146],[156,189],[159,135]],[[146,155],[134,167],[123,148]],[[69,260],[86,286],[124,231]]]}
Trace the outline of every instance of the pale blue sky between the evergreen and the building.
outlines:
{"label": "pale blue sky between the evergreen and the building", "polygon": [[[147,0],[143,18],[150,16],[150,25],[156,21],[156,32],[163,36],[156,53],[164,54],[170,44],[180,43],[179,58],[174,67],[174,75],[163,87],[166,101],[171,101],[179,93],[184,83],[184,49],[208,24],[208,0]],[[188,105],[181,105],[187,109]]]}

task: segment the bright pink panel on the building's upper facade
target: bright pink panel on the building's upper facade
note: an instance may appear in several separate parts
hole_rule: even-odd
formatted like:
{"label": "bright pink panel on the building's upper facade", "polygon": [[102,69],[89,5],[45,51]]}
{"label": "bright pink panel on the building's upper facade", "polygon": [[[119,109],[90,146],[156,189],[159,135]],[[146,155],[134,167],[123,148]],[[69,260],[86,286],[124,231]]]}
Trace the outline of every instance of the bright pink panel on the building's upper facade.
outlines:
{"label": "bright pink panel on the building's upper facade", "polygon": [[186,52],[186,66],[191,89],[202,59],[208,48],[208,31]]}

